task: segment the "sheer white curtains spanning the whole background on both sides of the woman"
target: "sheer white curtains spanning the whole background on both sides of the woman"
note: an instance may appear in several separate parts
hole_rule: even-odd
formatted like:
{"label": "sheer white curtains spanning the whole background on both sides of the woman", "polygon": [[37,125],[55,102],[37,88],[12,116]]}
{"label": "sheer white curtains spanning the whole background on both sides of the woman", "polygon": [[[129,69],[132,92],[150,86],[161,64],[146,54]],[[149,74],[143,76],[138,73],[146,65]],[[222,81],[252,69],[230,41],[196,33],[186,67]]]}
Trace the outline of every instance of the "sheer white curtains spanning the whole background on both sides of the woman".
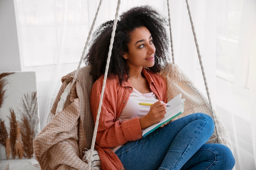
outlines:
{"label": "sheer white curtains spanning the whole background on both sides of the woman", "polygon": [[[14,0],[22,71],[36,71],[41,129],[61,86],[76,70],[99,0]],[[121,1],[120,12],[166,0]],[[96,27],[113,20],[117,0],[103,0]],[[213,106],[229,130],[236,170],[255,170],[256,1],[189,0]],[[186,2],[170,0],[175,63],[204,93]],[[171,54],[170,54],[171,57]]]}

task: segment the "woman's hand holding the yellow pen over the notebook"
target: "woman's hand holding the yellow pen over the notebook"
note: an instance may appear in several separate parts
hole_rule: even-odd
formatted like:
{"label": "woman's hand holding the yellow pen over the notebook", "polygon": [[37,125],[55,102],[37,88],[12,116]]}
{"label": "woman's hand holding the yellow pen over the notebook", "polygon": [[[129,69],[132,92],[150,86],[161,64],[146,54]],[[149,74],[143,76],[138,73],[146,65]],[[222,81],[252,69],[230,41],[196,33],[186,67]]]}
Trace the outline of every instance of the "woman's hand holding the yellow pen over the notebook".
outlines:
{"label": "woman's hand holding the yellow pen over the notebook", "polygon": [[147,115],[139,118],[141,130],[158,123],[164,119],[166,114],[166,103],[163,101],[157,101],[150,106],[150,110]]}

